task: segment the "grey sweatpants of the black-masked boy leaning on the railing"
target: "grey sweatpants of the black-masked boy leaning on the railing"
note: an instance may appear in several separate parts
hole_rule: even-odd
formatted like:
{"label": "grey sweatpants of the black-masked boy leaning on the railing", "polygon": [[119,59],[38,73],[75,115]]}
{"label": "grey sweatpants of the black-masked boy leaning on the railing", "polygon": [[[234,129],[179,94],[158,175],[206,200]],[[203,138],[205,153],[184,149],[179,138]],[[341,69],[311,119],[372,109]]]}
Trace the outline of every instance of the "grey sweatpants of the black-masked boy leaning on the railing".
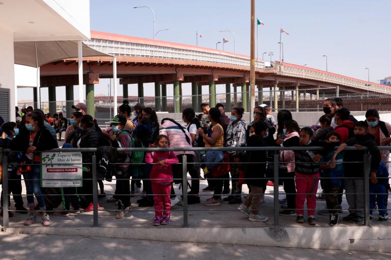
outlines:
{"label": "grey sweatpants of the black-masked boy leaning on the railing", "polygon": [[364,180],[345,179],[344,185],[346,200],[349,204],[349,213],[354,213],[359,217],[364,217]]}

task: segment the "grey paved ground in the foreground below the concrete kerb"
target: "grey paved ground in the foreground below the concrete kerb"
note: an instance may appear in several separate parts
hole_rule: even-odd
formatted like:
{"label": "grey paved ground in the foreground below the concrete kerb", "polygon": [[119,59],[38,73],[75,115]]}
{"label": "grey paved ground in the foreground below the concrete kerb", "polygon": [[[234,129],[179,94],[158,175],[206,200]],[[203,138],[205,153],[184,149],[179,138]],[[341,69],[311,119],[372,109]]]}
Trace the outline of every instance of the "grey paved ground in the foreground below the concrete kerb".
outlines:
{"label": "grey paved ground in the foreground below the concrete kerb", "polygon": [[0,233],[0,258],[18,259],[390,259],[389,253],[214,243]]}

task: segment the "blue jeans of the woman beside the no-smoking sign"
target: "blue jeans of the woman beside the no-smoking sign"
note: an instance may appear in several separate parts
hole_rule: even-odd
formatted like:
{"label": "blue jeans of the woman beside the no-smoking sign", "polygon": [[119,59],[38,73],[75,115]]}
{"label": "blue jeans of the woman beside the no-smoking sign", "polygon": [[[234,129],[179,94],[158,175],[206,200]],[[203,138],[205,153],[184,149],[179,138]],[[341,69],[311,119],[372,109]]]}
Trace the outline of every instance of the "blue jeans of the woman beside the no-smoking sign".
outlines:
{"label": "blue jeans of the woman beside the no-smoking sign", "polygon": [[33,165],[30,172],[23,173],[24,183],[26,184],[27,192],[27,207],[34,207],[34,196],[37,198],[39,208],[46,209],[45,197],[41,191],[41,167]]}

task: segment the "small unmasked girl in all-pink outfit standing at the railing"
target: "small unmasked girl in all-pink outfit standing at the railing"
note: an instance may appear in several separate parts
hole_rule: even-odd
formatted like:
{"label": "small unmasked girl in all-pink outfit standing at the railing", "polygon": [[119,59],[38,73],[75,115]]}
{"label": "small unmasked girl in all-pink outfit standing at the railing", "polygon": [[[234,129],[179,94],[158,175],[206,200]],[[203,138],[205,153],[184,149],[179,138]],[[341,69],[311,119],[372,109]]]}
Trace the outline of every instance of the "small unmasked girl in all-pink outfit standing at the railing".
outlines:
{"label": "small unmasked girl in all-pink outfit standing at the railing", "polygon": [[[167,148],[169,140],[166,136],[159,135],[156,143],[150,147]],[[147,164],[153,164],[151,171],[152,191],[154,195],[155,218],[153,225],[166,225],[170,222],[171,210],[171,183],[173,182],[172,164],[178,164],[178,158],[172,151],[147,152],[145,156]]]}

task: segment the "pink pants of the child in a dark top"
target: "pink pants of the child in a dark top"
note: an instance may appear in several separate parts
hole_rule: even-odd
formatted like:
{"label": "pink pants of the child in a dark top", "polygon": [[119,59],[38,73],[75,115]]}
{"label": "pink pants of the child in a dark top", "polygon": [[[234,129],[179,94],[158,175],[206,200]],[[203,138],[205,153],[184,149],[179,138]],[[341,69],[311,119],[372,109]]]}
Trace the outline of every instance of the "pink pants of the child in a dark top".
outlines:
{"label": "pink pants of the child in a dark top", "polygon": [[[309,216],[315,215],[316,191],[318,190],[319,173],[314,175],[295,174],[296,183],[296,214],[304,214],[304,202],[307,199],[307,211]],[[304,179],[298,179],[304,178]],[[305,193],[305,194],[304,194]]]}

